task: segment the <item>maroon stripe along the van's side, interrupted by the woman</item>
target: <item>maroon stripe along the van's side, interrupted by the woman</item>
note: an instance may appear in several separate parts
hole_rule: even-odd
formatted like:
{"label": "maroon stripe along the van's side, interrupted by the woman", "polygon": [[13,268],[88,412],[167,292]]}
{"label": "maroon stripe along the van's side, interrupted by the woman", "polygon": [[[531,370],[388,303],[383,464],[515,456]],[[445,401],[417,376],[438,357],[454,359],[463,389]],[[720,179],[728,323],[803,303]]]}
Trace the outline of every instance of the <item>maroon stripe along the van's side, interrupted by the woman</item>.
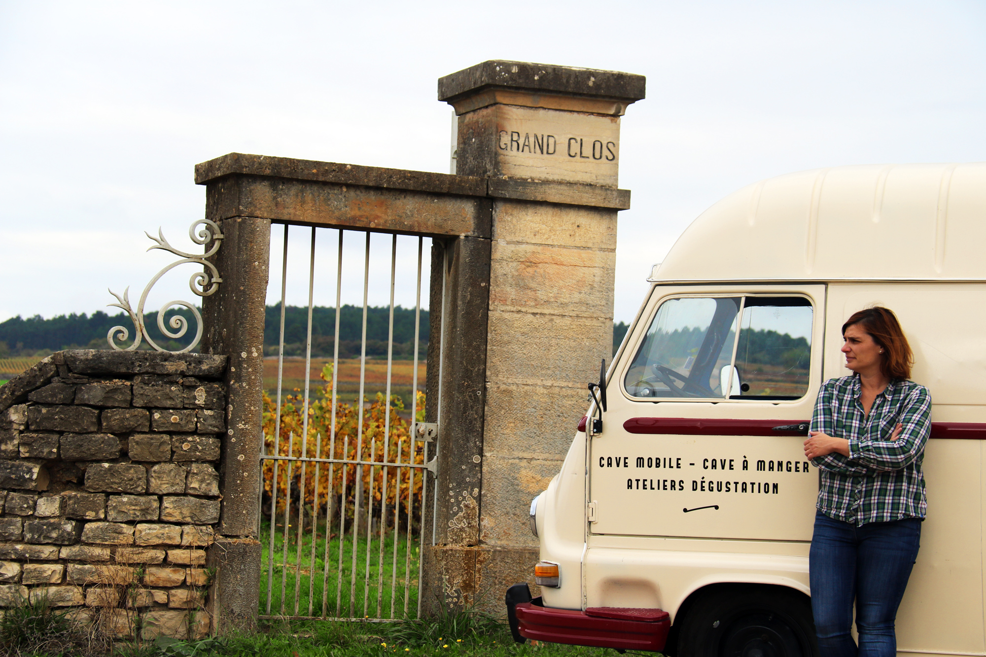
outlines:
{"label": "maroon stripe along the van's side, interrupted by the woman", "polygon": [[[694,417],[631,417],[623,422],[627,433],[675,434],[683,436],[794,436],[798,431],[776,431],[774,427],[797,424],[793,420],[711,419]],[[932,422],[932,438],[986,440],[986,423]]]}

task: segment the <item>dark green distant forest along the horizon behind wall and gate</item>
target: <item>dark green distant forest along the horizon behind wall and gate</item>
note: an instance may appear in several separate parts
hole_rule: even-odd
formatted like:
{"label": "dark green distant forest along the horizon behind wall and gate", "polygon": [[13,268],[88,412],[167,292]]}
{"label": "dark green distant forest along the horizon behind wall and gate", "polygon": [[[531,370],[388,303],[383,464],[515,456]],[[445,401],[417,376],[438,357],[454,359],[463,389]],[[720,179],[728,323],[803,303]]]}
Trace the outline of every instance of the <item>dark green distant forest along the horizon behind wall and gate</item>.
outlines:
{"label": "dark green distant forest along the horizon behind wall and gate", "polygon": [[[369,307],[367,309],[367,355],[387,356],[387,326],[389,308]],[[165,316],[166,323],[176,312]],[[189,320],[186,338],[194,335],[194,322],[191,313],[180,312]],[[187,339],[168,340],[157,329],[158,314],[149,313],[144,317],[151,336],[166,348],[180,348]],[[124,313],[107,315],[97,311],[92,315],[59,315],[45,320],[35,316],[25,320],[18,316],[0,323],[0,357],[32,356],[37,353],[50,353],[58,349],[106,349],[106,332],[109,328],[126,327],[133,337],[133,326]],[[277,342],[281,326],[281,307],[267,306],[264,318],[264,353],[277,353]],[[428,344],[428,311],[421,311],[421,349],[424,357]],[[308,309],[300,306],[287,306],[284,313],[284,354],[286,356],[305,355],[305,337],[308,328]],[[343,306],[339,313],[339,357],[353,358],[360,354],[363,329],[363,308]],[[613,327],[613,352],[619,346],[627,325],[620,322]],[[335,309],[316,306],[312,309],[312,355],[329,357],[334,352]],[[414,354],[414,309],[393,309],[393,354],[394,357],[410,358]]]}

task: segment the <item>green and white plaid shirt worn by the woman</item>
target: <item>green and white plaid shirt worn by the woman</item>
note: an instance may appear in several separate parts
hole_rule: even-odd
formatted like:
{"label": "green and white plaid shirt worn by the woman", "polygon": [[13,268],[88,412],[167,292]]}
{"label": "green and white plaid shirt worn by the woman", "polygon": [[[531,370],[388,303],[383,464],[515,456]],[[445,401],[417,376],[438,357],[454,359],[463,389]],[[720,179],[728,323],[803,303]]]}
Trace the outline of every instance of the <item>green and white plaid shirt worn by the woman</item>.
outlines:
{"label": "green and white plaid shirt worn by the woman", "polygon": [[[859,375],[830,379],[818,392],[811,430],[849,441],[849,458],[836,452],[812,459],[819,471],[818,510],[860,526],[924,518],[925,443],[931,434],[931,395],[913,381],[896,381],[873,401],[860,402]],[[903,424],[896,440],[894,427]]]}

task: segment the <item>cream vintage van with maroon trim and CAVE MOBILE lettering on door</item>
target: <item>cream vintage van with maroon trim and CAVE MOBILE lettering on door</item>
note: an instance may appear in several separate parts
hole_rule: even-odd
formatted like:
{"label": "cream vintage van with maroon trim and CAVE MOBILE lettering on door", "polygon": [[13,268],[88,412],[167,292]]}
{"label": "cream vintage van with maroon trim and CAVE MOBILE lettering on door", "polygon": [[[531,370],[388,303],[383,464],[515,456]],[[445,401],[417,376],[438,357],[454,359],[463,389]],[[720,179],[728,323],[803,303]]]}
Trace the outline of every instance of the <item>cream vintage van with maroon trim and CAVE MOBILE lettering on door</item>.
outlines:
{"label": "cream vintage van with maroon trim and CAVE MOBILE lettering on door", "polygon": [[934,402],[898,650],[986,656],[986,164],[752,184],[698,217],[649,280],[599,402],[531,504],[541,595],[508,591],[515,637],[816,654],[818,475],[802,443],[821,383],[849,374],[842,324],[881,304]]}

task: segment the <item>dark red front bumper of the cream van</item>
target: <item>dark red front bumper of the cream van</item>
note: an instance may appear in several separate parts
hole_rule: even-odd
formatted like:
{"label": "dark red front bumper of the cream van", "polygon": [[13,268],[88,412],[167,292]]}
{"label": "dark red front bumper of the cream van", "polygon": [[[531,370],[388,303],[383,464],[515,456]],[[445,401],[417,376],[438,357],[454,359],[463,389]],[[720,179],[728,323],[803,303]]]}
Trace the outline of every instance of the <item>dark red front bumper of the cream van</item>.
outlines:
{"label": "dark red front bumper of the cream van", "polygon": [[661,610],[599,608],[579,612],[540,607],[540,602],[535,598],[515,607],[521,634],[528,639],[655,652],[664,650],[668,639],[671,621]]}

